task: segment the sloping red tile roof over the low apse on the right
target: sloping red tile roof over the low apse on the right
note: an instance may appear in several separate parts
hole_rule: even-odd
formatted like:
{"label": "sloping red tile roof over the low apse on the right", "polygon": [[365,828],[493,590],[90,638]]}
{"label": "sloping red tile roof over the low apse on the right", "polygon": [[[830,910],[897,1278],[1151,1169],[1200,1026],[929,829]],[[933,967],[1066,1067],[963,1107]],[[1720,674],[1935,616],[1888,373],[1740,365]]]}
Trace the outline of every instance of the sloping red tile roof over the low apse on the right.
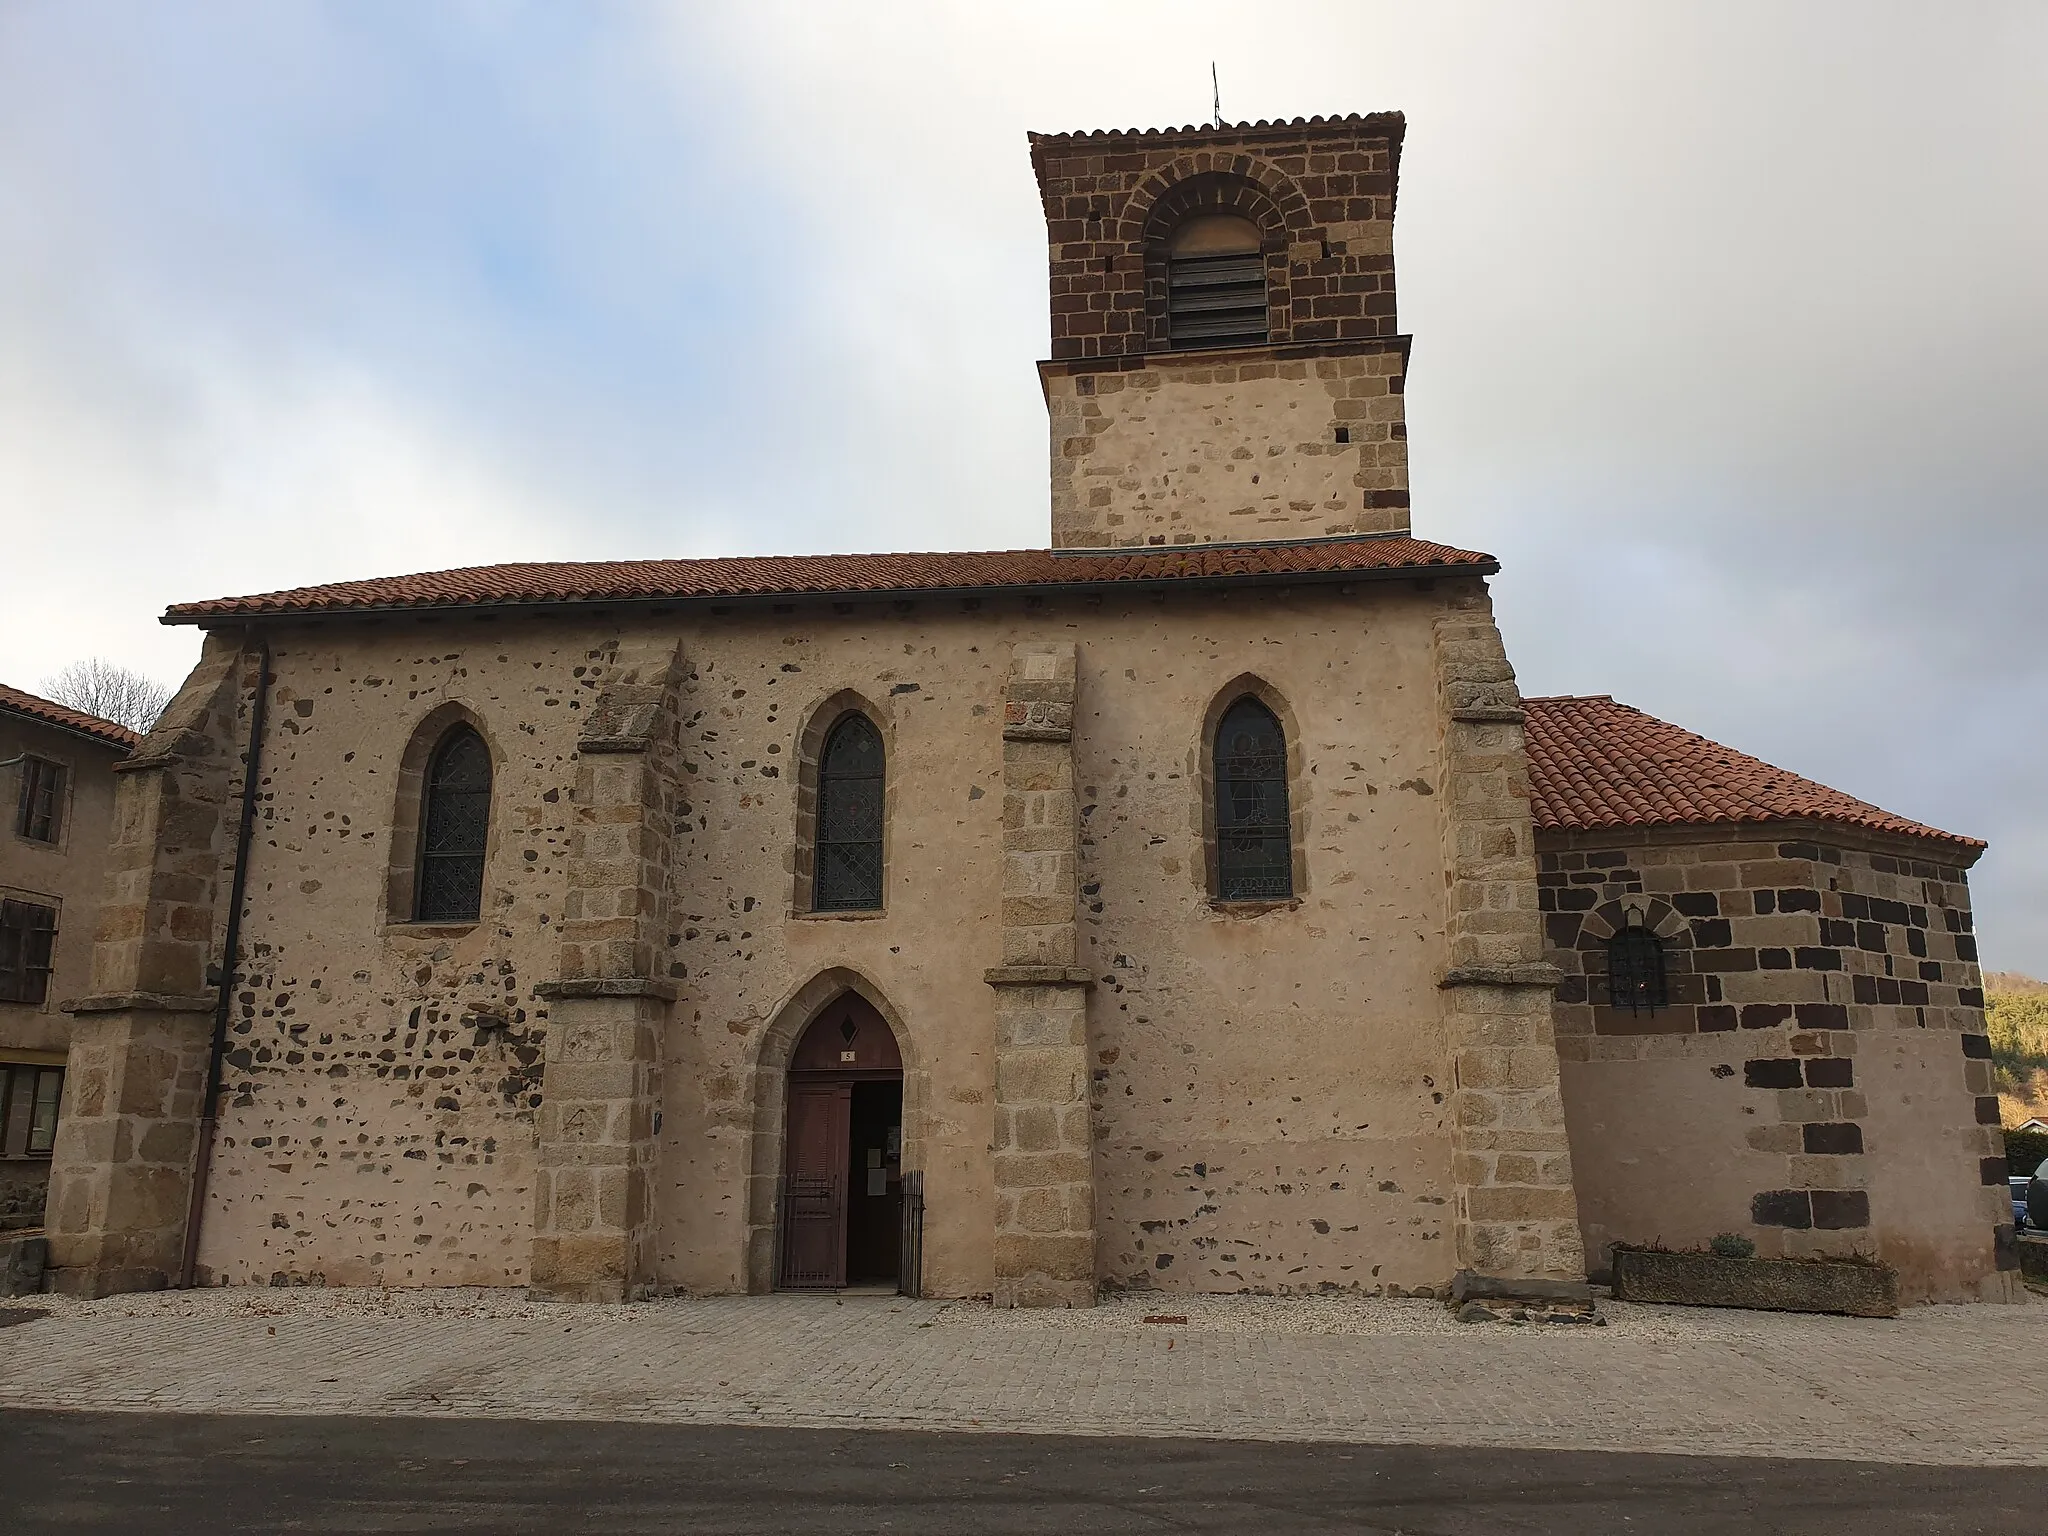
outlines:
{"label": "sloping red tile roof over the low apse on the right", "polygon": [[1833,821],[1927,838],[1952,850],[1985,848],[1978,838],[1907,821],[1606,694],[1524,698],[1522,705],[1528,711],[1530,805],[1540,831]]}

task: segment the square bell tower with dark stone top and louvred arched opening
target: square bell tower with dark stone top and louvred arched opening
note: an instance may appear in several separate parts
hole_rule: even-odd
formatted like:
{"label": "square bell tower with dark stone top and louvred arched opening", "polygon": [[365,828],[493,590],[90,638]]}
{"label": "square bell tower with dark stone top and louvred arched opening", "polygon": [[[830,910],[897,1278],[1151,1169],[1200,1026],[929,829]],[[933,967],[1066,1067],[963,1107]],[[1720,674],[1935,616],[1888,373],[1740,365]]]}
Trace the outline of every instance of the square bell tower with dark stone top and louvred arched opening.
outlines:
{"label": "square bell tower with dark stone top and louvred arched opening", "polygon": [[1030,135],[1055,549],[1409,530],[1403,127]]}

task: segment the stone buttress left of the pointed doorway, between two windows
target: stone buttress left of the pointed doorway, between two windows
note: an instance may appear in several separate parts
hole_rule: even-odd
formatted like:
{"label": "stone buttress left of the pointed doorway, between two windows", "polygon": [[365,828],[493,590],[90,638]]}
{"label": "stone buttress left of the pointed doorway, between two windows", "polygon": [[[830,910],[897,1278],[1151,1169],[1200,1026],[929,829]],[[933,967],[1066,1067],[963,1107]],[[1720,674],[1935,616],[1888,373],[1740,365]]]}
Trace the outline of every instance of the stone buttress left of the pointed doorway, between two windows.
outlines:
{"label": "stone buttress left of the pointed doorway, between two windows", "polygon": [[653,1284],[678,668],[676,641],[618,645],[575,743],[561,975],[539,987],[549,1030],[528,1268],[532,1292],[557,1300],[631,1300]]}

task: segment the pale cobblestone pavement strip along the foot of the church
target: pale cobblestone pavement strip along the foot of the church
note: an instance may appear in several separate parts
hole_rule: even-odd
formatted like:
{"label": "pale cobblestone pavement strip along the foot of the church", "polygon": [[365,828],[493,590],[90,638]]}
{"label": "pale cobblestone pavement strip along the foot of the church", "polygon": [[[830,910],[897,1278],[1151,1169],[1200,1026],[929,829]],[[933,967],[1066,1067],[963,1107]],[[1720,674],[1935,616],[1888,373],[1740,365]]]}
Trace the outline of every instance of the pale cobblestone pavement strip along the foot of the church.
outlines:
{"label": "pale cobblestone pavement strip along the foot of the church", "polygon": [[[1921,1464],[2048,1464],[2048,1300],[1896,1321],[1602,1303],[1608,1327],[1434,1303],[897,1296],[557,1307],[500,1292],[37,1298],[0,1407],[399,1413],[1221,1436]],[[1171,1317],[1186,1321],[1145,1321]]]}

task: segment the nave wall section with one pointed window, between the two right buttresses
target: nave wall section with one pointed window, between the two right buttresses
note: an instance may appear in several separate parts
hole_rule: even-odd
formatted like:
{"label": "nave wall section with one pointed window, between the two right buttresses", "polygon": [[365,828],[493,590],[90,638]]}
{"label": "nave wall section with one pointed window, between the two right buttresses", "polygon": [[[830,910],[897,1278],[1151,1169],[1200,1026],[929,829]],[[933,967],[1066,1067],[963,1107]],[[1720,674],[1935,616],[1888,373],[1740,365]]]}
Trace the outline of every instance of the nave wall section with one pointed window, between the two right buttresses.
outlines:
{"label": "nave wall section with one pointed window, between the two right buttresses", "polygon": [[[1245,594],[1180,647],[1083,641],[1081,961],[1112,1284],[1436,1290],[1458,1268],[1432,653],[1450,586],[1352,610]],[[1292,901],[1206,885],[1200,723],[1239,692],[1298,752]]]}

